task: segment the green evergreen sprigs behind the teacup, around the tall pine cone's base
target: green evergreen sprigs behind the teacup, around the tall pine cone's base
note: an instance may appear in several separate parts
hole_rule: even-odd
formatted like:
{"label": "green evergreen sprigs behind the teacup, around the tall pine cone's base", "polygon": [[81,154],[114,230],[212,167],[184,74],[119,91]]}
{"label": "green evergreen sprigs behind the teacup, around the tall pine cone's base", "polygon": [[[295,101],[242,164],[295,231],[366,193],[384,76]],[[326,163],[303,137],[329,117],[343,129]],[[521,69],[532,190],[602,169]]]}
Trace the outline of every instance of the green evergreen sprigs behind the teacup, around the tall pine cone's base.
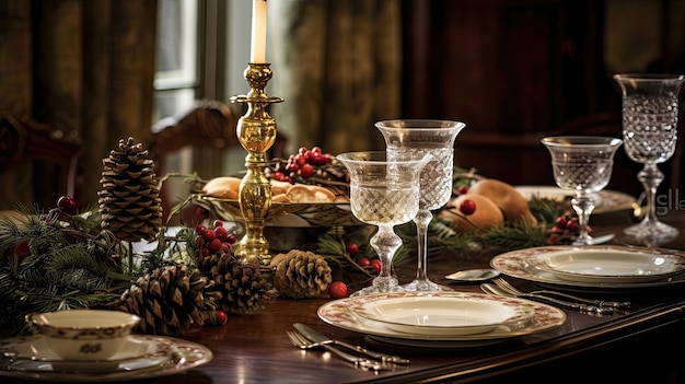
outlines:
{"label": "green evergreen sprigs behind the teacup, around the tall pine cone's base", "polygon": [[24,214],[0,219],[0,336],[30,333],[24,317],[34,312],[106,306],[138,277],[174,260],[195,265],[190,229],[160,235],[153,251],[137,255],[100,229],[95,210]]}

